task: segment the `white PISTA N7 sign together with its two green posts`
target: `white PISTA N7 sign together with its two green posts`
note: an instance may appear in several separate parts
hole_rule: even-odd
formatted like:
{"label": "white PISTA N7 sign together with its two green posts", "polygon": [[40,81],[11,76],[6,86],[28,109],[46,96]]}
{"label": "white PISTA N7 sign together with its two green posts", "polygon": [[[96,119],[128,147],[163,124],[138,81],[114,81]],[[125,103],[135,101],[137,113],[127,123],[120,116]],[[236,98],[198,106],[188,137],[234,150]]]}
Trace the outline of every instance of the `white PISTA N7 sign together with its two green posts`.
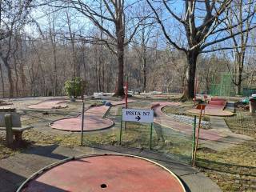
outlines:
{"label": "white PISTA N7 sign together with its two green posts", "polygon": [[122,122],[150,123],[150,149],[152,148],[154,110],[122,109],[119,145],[122,143]]}

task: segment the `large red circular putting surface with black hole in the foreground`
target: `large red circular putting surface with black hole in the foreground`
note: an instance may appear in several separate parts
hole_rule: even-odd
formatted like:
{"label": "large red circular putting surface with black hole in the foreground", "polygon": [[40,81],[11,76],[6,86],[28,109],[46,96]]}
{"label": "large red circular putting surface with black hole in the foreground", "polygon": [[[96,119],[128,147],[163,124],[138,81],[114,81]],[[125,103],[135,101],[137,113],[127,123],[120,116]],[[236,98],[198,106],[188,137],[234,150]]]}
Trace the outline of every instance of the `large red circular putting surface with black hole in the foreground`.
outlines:
{"label": "large red circular putting surface with black hole in the foreground", "polygon": [[170,171],[142,158],[109,154],[55,166],[30,181],[22,192],[182,192]]}

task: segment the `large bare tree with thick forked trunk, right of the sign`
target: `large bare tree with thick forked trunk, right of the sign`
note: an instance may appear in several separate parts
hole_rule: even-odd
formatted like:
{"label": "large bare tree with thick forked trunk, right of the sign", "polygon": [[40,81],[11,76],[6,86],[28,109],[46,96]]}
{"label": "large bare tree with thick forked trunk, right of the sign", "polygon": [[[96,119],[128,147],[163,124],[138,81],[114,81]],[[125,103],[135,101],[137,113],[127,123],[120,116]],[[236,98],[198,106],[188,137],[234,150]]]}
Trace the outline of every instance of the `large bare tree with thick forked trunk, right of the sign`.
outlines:
{"label": "large bare tree with thick forked trunk, right of the sign", "polygon": [[[252,30],[255,27],[250,26],[246,30],[241,30],[234,34],[226,34],[226,30],[234,29],[239,26],[239,22],[232,23],[230,26],[224,25],[227,17],[229,17],[229,15],[226,14],[226,10],[230,9],[230,6],[232,6],[232,0],[184,0],[182,2],[166,0],[154,2],[146,0],[146,2],[154,11],[155,17],[162,27],[167,42],[176,49],[186,53],[188,68],[186,73],[187,85],[183,95],[184,98],[194,98],[194,78],[198,55],[222,49],[233,49],[233,47],[230,46],[222,46],[217,49],[211,49],[210,47],[229,40],[247,30]],[[178,4],[178,6],[182,4],[182,13],[178,11],[175,12],[173,9],[175,3]],[[158,6],[158,8],[156,8],[156,6]],[[245,22],[248,18],[244,18],[242,22]],[[187,43],[185,46],[175,41],[175,36],[177,36],[177,32],[175,33],[176,30],[168,30],[167,24],[171,22],[176,23],[176,30],[178,29],[178,33],[183,34],[184,38],[186,38]]]}

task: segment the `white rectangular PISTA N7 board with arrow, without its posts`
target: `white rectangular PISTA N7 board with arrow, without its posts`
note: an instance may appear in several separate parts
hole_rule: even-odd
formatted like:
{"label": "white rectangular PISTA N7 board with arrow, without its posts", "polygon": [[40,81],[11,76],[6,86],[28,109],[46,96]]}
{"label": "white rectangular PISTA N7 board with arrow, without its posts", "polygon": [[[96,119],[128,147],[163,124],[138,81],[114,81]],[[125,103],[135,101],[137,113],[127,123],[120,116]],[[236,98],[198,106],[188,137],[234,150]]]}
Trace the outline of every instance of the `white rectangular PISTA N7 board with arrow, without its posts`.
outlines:
{"label": "white rectangular PISTA N7 board with arrow, without its posts", "polygon": [[154,122],[153,110],[122,109],[122,121]]}

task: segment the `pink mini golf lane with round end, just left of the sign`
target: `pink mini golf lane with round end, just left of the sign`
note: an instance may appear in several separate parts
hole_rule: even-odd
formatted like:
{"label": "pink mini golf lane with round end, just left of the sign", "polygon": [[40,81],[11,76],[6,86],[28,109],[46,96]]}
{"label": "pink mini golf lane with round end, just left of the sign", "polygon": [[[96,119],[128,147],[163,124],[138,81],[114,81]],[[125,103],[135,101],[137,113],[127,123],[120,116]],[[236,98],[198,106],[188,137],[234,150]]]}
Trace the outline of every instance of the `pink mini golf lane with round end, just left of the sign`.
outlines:
{"label": "pink mini golf lane with round end, just left of the sign", "polygon": [[[134,100],[128,100],[128,102],[135,102]],[[111,102],[113,106],[122,105],[125,101]],[[103,118],[107,111],[110,110],[110,106],[92,106],[85,112],[85,125],[84,131],[105,130],[114,125],[114,122],[109,118]],[[57,130],[67,131],[81,131],[82,115],[78,115],[75,118],[62,118],[56,121],[50,122],[50,126]]]}

